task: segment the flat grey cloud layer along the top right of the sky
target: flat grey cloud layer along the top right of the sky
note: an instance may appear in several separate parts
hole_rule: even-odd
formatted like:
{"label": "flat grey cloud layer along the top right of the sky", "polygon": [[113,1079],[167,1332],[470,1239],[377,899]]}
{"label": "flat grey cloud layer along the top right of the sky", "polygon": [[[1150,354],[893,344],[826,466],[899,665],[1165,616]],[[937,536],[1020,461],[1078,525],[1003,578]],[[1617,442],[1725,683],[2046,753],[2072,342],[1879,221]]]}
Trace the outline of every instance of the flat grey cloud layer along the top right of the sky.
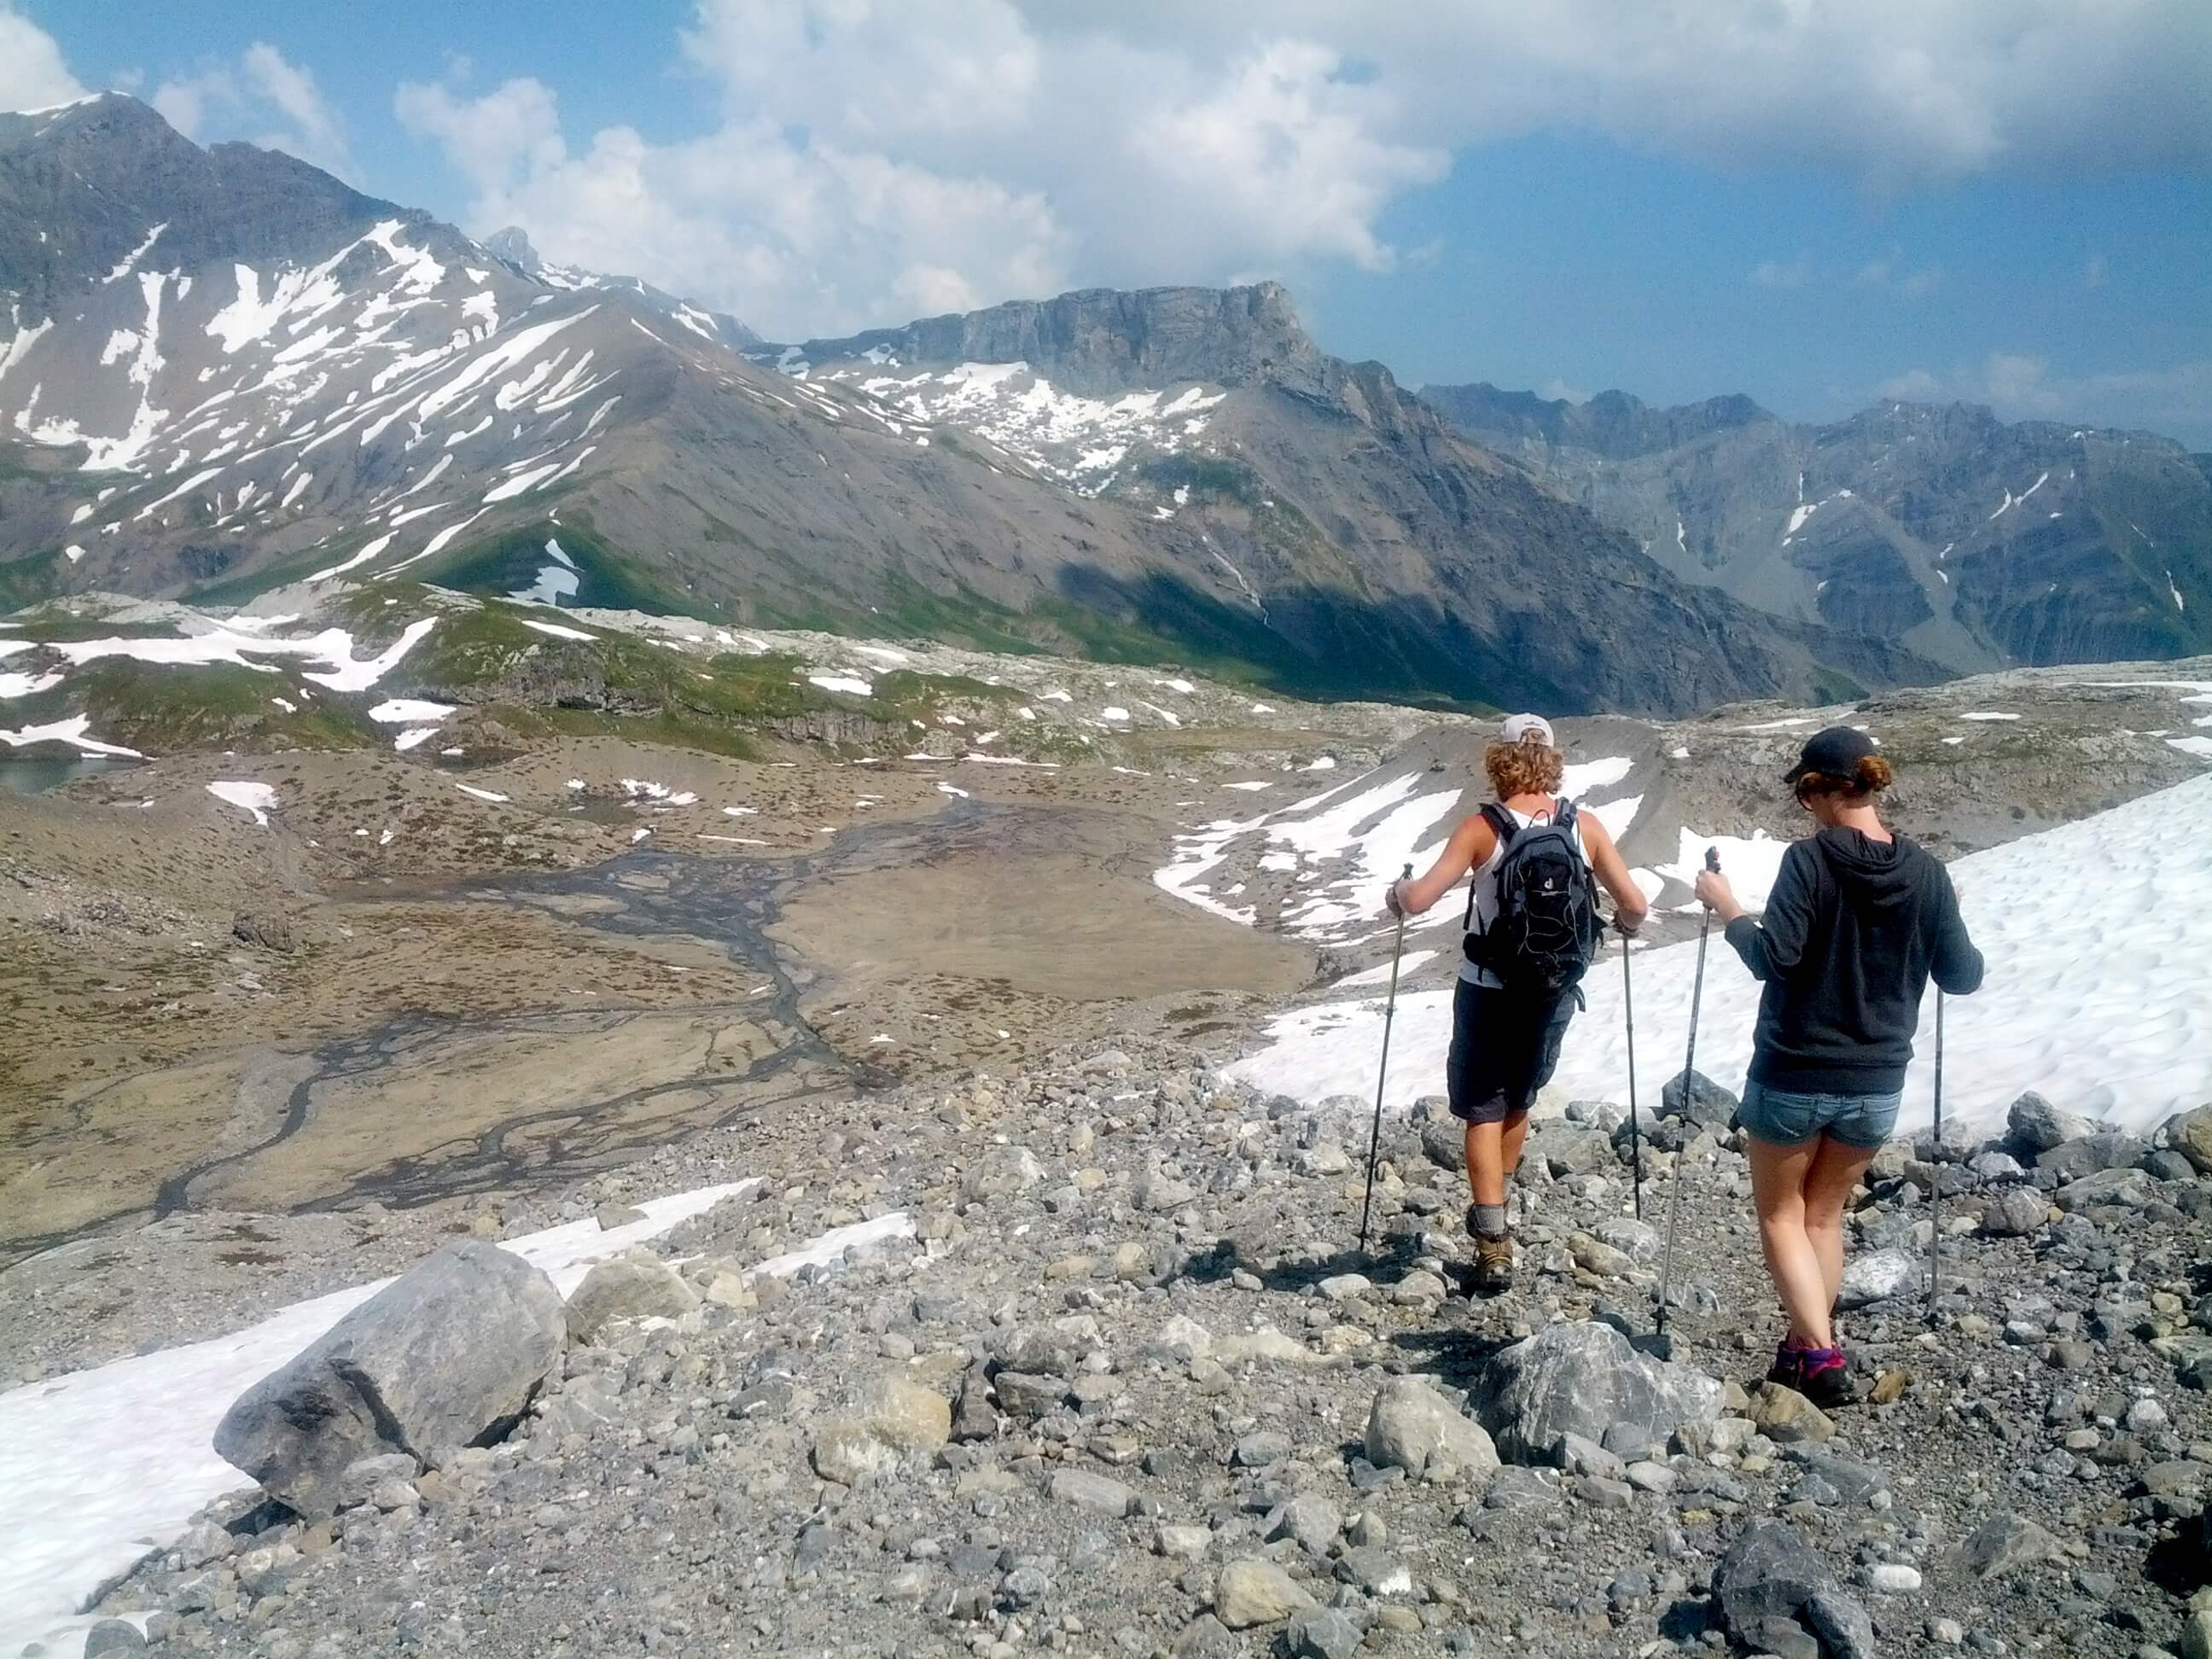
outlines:
{"label": "flat grey cloud layer along the top right of the sky", "polygon": [[[1095,9],[1024,0],[1048,38]],[[2203,166],[2201,0],[1276,0],[1267,27],[1374,64],[1420,142],[1582,131],[1743,168],[1812,164],[1878,186],[1991,170]],[[1121,0],[1133,40],[1203,55],[1243,7]]]}

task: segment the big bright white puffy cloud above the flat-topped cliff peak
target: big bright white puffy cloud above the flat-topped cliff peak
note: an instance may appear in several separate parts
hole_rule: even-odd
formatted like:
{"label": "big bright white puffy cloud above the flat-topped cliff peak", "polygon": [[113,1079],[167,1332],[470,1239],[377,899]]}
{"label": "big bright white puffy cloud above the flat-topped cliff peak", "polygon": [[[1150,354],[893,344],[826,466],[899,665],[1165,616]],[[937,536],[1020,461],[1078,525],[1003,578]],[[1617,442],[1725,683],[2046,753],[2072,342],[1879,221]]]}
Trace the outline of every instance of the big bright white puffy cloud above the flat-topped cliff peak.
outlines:
{"label": "big bright white puffy cloud above the flat-topped cliff peak", "polygon": [[1385,88],[1323,46],[1199,66],[1084,38],[1046,53],[995,0],[706,0],[684,35],[721,124],[653,144],[562,135],[551,88],[398,88],[471,184],[471,228],[635,272],[774,336],[1079,281],[1225,281],[1296,261],[1387,270],[1376,230],[1442,150],[1380,137]]}

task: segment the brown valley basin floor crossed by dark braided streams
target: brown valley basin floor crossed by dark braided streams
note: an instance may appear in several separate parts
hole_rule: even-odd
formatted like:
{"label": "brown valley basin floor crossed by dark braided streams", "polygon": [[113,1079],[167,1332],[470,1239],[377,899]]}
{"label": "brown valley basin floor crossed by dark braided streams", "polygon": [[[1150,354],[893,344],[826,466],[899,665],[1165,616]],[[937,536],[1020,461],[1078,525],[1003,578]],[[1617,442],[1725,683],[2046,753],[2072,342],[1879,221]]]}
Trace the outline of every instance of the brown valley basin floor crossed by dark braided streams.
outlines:
{"label": "brown valley basin floor crossed by dark braided streams", "polygon": [[[217,772],[265,781],[270,821]],[[1314,975],[1152,885],[1188,785],[958,779],[555,743],[0,794],[0,1243],[495,1192]]]}

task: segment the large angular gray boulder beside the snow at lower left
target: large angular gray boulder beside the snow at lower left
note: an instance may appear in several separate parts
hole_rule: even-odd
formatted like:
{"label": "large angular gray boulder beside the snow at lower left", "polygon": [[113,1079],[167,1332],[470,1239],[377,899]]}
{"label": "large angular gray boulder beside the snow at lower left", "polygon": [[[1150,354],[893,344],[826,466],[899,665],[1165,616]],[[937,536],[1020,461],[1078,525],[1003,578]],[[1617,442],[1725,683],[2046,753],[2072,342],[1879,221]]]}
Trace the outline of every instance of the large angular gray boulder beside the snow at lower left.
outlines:
{"label": "large angular gray boulder beside the snow at lower left", "polygon": [[566,1321],[542,1270],[478,1239],[394,1279],[237,1398],[215,1451],[310,1520],[345,1469],[507,1436],[560,1365]]}

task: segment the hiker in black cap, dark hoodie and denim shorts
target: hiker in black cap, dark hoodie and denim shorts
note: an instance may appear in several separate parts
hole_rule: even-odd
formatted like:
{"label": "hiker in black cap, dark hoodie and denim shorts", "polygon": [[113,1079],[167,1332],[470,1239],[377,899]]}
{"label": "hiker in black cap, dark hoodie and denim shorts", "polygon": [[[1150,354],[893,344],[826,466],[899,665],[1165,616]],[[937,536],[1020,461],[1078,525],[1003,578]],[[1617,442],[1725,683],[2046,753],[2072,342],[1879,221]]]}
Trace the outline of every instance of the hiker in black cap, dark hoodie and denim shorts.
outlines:
{"label": "hiker in black cap, dark hoodie and denim shorts", "polygon": [[1725,876],[1697,878],[1697,896],[1765,982],[1736,1119],[1790,1321],[1767,1376],[1816,1405],[1856,1398],[1834,1329],[1843,1208],[1896,1128],[1920,998],[1931,975],[1951,995],[1982,987],[1951,874],[1874,810],[1891,781],[1874,739],[1832,726],[1783,776],[1820,830],[1783,854],[1765,916],[1752,920]]}

